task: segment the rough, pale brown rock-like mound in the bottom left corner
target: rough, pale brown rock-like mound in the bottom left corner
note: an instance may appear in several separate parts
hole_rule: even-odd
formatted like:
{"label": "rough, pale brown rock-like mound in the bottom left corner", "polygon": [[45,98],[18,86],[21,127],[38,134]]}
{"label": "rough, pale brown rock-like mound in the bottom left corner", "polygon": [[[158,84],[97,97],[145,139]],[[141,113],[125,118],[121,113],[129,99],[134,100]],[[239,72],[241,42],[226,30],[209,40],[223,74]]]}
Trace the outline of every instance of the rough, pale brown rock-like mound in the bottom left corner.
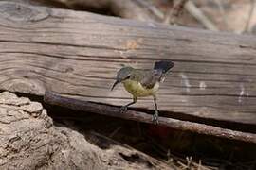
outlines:
{"label": "rough, pale brown rock-like mound in the bottom left corner", "polygon": [[0,169],[105,169],[101,149],[53,126],[40,103],[8,92],[0,103]]}

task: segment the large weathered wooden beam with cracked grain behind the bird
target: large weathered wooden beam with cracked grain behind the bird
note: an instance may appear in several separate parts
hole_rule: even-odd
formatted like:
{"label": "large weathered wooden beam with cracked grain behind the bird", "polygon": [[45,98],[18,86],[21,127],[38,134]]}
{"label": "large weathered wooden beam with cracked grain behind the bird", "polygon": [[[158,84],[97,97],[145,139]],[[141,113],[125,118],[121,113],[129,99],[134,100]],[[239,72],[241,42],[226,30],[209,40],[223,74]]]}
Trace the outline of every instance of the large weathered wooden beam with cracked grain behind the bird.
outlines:
{"label": "large weathered wooden beam with cracked grain behind the bird", "polygon": [[[139,23],[87,12],[0,2],[0,89],[112,105],[121,64],[149,69],[175,62],[159,91],[159,110],[256,125],[253,36]],[[154,109],[151,98],[138,108]]]}

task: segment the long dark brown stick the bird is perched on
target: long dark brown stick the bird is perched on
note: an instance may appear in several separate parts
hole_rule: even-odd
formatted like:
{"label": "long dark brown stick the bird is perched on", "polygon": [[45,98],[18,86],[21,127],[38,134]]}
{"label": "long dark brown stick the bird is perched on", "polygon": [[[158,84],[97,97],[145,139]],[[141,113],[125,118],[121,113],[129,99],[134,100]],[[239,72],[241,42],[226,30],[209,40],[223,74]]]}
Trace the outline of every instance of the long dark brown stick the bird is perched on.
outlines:
{"label": "long dark brown stick the bird is perched on", "polygon": [[[121,114],[119,108],[115,106],[82,101],[47,91],[45,93],[44,100],[47,104],[63,106],[72,110],[82,110],[85,112],[97,113],[152,124],[152,115],[140,111],[127,110],[125,113]],[[159,117],[159,126],[171,127],[174,129],[187,130],[199,134],[206,134],[227,138],[229,140],[238,140],[256,144],[256,134],[240,132],[221,127],[213,127],[189,121],[181,121],[173,118]]]}

